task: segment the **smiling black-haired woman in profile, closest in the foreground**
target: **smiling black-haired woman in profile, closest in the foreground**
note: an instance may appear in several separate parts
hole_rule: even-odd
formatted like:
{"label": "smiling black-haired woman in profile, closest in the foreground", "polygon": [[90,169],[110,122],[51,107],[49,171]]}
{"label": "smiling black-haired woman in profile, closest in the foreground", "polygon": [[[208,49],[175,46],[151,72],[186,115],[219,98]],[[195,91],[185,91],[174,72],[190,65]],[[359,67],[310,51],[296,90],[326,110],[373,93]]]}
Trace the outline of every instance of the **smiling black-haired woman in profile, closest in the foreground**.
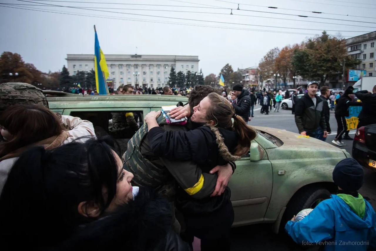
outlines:
{"label": "smiling black-haired woman in profile, closest in the foreground", "polygon": [[136,196],[109,145],[88,139],[23,153],[0,196],[2,250],[186,250],[168,202]]}

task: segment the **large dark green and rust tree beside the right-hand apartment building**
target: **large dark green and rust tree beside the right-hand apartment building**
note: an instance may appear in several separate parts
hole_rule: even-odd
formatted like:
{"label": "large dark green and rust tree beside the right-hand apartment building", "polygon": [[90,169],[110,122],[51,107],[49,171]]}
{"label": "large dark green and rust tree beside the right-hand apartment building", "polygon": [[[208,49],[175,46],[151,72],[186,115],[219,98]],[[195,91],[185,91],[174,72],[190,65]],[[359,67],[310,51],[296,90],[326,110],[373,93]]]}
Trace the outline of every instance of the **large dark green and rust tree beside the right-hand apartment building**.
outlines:
{"label": "large dark green and rust tree beside the right-hand apartment building", "polygon": [[309,38],[303,47],[294,51],[292,64],[296,73],[310,80],[320,80],[323,85],[330,77],[342,72],[345,61],[347,69],[359,64],[347,54],[344,39],[331,37],[325,31],[320,37]]}

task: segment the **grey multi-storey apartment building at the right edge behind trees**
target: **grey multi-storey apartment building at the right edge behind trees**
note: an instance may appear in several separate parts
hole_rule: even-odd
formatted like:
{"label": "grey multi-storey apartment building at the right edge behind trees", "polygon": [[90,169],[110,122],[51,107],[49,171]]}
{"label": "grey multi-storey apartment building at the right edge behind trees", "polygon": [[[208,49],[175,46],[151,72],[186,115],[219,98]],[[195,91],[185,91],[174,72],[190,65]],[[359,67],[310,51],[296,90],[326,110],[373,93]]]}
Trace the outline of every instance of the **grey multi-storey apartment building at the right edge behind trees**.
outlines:
{"label": "grey multi-storey apartment building at the right edge behind trees", "polygon": [[376,31],[346,39],[347,53],[361,60],[358,69],[366,70],[367,76],[376,76]]}

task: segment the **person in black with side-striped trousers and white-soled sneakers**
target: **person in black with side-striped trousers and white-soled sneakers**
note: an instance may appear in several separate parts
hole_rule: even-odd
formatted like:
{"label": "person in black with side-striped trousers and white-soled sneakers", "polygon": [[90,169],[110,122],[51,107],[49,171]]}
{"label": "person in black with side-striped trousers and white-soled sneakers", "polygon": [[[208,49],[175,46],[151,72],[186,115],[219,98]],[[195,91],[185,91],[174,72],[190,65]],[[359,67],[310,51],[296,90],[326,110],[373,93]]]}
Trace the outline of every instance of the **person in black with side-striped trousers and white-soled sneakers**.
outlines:
{"label": "person in black with side-striped trousers and white-soled sneakers", "polygon": [[342,141],[342,135],[347,131],[346,118],[349,116],[349,106],[361,106],[362,102],[351,101],[353,98],[353,91],[346,89],[345,93],[337,99],[337,105],[335,106],[335,119],[337,120],[337,135],[332,140],[332,143],[344,146],[346,145]]}

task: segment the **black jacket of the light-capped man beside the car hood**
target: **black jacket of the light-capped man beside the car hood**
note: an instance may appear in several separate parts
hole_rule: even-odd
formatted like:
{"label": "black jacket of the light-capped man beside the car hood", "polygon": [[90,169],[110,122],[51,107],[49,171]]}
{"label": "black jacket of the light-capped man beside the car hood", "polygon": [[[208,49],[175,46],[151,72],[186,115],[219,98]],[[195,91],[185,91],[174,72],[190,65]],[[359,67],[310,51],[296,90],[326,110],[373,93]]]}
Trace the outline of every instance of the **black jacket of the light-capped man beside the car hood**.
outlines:
{"label": "black jacket of the light-capped man beside the car hood", "polygon": [[306,93],[295,104],[295,123],[298,127],[299,133],[306,130],[316,130],[321,127],[323,131],[326,131],[326,122],[323,111],[323,100],[316,97],[316,106],[312,99]]}

